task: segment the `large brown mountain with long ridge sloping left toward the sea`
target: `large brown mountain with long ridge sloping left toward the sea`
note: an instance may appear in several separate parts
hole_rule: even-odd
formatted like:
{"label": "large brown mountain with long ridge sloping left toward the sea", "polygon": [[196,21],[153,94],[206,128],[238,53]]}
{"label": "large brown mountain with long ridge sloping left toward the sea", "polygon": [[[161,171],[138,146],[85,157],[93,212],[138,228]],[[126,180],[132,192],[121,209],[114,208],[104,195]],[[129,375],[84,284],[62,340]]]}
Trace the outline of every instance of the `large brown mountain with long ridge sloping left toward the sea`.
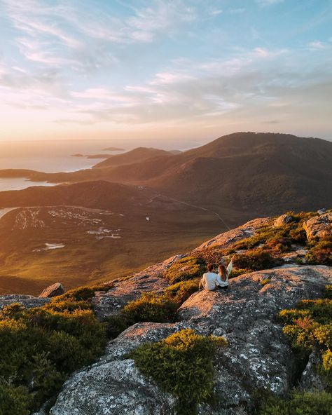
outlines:
{"label": "large brown mountain with long ridge sloping left toward the sea", "polygon": [[[138,148],[95,168],[25,172],[35,181],[104,180],[146,186],[212,210],[230,224],[290,209],[332,204],[332,142],[289,134],[236,132],[180,154]],[[18,175],[15,170],[2,175]]]}

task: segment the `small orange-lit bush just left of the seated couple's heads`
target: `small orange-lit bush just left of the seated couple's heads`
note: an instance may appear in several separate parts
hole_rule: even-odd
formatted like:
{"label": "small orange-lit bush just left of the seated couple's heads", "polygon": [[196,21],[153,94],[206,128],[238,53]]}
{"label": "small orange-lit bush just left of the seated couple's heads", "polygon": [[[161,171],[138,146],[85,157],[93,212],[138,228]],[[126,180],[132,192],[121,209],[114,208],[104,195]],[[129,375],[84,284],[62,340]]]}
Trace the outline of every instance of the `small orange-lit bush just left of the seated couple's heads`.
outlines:
{"label": "small orange-lit bush just left of the seated couple's heads", "polygon": [[165,278],[170,284],[180,281],[193,280],[205,273],[205,261],[201,258],[184,257],[176,261],[165,272]]}

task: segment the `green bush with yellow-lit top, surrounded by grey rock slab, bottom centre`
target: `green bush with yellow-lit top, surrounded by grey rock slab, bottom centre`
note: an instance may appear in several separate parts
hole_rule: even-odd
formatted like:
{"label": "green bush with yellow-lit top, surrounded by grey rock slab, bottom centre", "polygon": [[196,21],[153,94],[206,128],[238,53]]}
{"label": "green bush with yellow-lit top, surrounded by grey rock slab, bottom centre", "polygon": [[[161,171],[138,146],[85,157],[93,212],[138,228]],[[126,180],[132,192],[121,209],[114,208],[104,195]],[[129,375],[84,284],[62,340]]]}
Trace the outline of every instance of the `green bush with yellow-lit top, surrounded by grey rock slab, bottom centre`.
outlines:
{"label": "green bush with yellow-lit top, surrounded by grey rock slab, bottom centre", "polygon": [[223,338],[184,329],[158,343],[144,343],[130,358],[145,376],[178,398],[177,414],[190,415],[212,397],[212,360],[217,346],[225,344]]}

